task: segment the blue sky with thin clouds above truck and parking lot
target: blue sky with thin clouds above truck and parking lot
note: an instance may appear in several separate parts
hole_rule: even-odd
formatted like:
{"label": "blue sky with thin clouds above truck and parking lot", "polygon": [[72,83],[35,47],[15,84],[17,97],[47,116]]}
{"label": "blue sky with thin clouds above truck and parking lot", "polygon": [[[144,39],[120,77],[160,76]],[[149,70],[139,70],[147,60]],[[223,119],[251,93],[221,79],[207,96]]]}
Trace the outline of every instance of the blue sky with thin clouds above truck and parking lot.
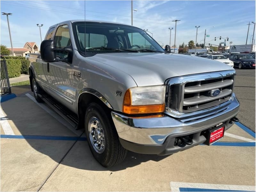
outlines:
{"label": "blue sky with thin clouds above truck and parking lot", "polygon": [[[40,32],[36,24],[43,24],[42,39],[48,28],[61,21],[84,19],[84,1],[0,1],[1,12],[9,16],[13,47],[23,47],[26,42],[36,42],[40,47]],[[86,19],[131,24],[131,1],[86,1]],[[133,25],[148,29],[159,44],[176,45],[190,40],[203,43],[204,30],[210,37],[206,42],[219,44],[214,37],[229,37],[233,45],[245,44],[248,22],[255,22],[255,1],[133,1]],[[7,19],[1,15],[1,44],[11,47]],[[214,28],[212,28],[214,26]],[[247,44],[251,41],[254,25],[250,25]],[[150,35],[150,33],[149,33]],[[255,39],[255,35],[254,35]],[[212,40],[212,41],[211,41]],[[221,40],[223,42],[223,40]]]}

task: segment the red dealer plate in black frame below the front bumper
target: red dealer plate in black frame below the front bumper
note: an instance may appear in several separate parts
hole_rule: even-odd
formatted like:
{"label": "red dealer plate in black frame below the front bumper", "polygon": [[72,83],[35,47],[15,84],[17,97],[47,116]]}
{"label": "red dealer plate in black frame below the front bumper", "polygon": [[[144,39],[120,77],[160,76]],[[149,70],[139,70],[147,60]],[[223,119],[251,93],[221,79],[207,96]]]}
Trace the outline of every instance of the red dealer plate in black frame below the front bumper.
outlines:
{"label": "red dealer plate in black frame below the front bumper", "polygon": [[225,130],[225,125],[220,125],[216,128],[212,128],[212,129],[207,130],[207,132],[205,134],[206,141],[204,142],[204,144],[212,145],[213,143],[222,139],[223,136],[224,136],[224,130]]}

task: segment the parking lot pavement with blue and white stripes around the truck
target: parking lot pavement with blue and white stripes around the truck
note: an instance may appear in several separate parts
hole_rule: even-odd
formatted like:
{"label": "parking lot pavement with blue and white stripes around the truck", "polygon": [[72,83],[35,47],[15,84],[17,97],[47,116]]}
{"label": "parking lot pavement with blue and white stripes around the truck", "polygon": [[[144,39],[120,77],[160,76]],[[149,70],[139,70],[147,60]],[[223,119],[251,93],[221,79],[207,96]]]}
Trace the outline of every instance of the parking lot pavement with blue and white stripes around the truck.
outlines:
{"label": "parking lot pavement with blue and white stripes around the truck", "polygon": [[[239,78],[236,88],[246,83]],[[29,86],[12,92],[17,97],[1,103],[1,191],[255,191],[255,133],[242,124],[212,146],[170,156],[128,152],[124,162],[104,168],[93,158],[83,130],[34,102]],[[247,89],[236,95],[240,112],[246,113]]]}

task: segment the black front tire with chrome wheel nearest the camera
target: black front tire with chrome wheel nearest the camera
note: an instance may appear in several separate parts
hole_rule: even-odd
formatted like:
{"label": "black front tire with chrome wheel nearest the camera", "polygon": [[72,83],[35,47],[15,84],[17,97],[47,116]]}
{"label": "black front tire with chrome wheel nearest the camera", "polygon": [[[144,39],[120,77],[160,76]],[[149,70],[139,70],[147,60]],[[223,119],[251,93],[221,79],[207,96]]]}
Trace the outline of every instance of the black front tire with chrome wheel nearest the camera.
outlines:
{"label": "black front tire with chrome wheel nearest the camera", "polygon": [[[94,158],[103,167],[111,167],[124,160],[127,150],[120,144],[111,116],[105,111],[97,103],[89,104],[85,113],[84,127],[87,142]],[[97,130],[93,126],[97,127]],[[104,136],[102,137],[102,135]]]}

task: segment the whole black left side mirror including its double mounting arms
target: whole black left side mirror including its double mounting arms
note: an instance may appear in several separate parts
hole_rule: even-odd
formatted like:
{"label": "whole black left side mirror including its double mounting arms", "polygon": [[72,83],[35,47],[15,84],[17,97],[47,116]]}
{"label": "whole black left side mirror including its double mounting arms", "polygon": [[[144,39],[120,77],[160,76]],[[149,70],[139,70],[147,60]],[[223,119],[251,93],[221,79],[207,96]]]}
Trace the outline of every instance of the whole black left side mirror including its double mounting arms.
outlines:
{"label": "whole black left side mirror including its double mounting arms", "polygon": [[[73,49],[71,46],[64,47],[63,49],[55,48],[55,43],[53,40],[44,40],[40,46],[41,59],[45,62],[57,62],[63,61],[69,64],[72,63]],[[56,59],[56,51],[67,52],[68,57],[65,59]]]}

